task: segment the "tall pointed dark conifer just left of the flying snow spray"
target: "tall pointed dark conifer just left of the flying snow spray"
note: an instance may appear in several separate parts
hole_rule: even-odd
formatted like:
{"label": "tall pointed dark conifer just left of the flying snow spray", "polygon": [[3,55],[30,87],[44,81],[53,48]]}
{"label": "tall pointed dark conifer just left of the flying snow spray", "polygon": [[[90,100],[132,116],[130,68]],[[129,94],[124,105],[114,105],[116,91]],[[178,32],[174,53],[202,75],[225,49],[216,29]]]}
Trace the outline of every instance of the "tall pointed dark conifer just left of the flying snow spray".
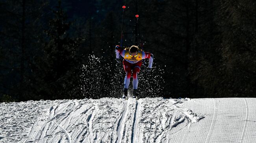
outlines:
{"label": "tall pointed dark conifer just left of the flying snow spray", "polygon": [[52,13],[54,17],[45,30],[43,55],[37,57],[37,99],[71,98],[74,87],[79,84],[82,55],[77,50],[84,39],[69,36],[72,22],[61,8],[61,1]]}

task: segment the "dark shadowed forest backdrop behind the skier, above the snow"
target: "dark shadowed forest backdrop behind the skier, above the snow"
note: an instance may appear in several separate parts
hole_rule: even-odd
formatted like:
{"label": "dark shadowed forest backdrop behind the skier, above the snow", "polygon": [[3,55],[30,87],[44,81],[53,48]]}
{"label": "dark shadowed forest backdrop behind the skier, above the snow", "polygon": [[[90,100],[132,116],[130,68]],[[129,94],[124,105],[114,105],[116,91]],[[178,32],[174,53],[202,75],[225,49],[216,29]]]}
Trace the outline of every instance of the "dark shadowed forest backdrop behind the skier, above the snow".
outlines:
{"label": "dark shadowed forest backdrop behind the skier, above the snow", "polygon": [[256,97],[253,0],[0,0],[1,101],[119,98],[124,4],[123,45],[139,14],[154,54],[142,97]]}

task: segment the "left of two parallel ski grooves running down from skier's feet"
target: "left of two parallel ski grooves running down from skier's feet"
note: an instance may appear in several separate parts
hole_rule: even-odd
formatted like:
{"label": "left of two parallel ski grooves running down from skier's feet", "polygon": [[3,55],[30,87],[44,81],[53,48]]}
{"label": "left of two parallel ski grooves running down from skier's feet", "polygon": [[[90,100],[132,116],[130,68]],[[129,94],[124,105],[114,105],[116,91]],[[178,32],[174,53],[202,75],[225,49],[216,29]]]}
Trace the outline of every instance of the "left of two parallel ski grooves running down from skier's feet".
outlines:
{"label": "left of two parallel ski grooves running down from skier's feet", "polygon": [[127,100],[123,101],[123,111],[122,111],[122,116],[121,119],[118,121],[117,125],[117,140],[115,143],[121,143],[123,134],[124,134],[124,129],[123,129],[123,121],[124,121],[124,116],[126,115],[126,110],[127,110]]}

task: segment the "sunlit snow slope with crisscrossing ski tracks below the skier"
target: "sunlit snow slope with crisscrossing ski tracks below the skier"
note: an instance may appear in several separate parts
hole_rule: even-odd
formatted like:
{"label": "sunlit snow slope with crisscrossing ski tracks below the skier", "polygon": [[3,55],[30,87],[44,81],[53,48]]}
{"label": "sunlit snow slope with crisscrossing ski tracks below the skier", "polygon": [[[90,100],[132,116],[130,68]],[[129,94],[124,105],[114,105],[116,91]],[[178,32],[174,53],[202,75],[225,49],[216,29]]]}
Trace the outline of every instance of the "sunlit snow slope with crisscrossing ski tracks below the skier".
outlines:
{"label": "sunlit snow slope with crisscrossing ski tracks below the skier", "polygon": [[255,103],[254,98],[1,103],[0,143],[253,143]]}

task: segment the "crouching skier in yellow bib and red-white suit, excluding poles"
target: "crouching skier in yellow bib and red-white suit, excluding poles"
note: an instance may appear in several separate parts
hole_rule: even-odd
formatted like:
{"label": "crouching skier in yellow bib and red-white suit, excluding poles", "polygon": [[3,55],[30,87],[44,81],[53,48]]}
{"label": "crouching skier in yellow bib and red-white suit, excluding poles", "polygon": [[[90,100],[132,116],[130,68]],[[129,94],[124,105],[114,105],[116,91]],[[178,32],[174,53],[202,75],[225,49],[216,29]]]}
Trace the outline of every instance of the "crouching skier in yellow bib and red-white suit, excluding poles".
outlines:
{"label": "crouching skier in yellow bib and red-white suit, excluding poles", "polygon": [[143,59],[149,58],[148,67],[144,70],[146,72],[151,71],[152,63],[153,63],[153,54],[149,52],[143,52],[139,49],[138,46],[132,45],[130,48],[122,49],[119,45],[115,47],[116,60],[118,63],[121,63],[121,55],[124,60],[122,61],[124,65],[124,71],[126,72],[126,76],[124,78],[124,95],[122,98],[127,98],[128,95],[128,87],[130,84],[130,78],[133,77],[133,98],[138,98],[138,73],[141,69],[141,64]]}

